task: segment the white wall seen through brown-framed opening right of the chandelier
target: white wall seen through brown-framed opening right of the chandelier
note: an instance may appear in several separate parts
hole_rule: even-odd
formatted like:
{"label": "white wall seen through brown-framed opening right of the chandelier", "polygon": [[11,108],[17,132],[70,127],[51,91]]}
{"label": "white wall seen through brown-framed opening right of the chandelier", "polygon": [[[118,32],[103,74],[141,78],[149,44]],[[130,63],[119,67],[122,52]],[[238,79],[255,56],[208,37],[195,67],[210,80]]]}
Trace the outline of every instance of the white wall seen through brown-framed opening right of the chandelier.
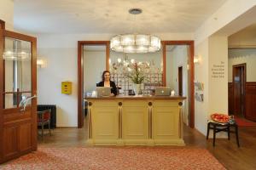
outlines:
{"label": "white wall seen through brown-framed opening right of the chandelier", "polygon": [[183,67],[183,122],[188,124],[188,46],[177,45],[172,51],[166,52],[166,86],[170,86],[178,95],[178,67]]}

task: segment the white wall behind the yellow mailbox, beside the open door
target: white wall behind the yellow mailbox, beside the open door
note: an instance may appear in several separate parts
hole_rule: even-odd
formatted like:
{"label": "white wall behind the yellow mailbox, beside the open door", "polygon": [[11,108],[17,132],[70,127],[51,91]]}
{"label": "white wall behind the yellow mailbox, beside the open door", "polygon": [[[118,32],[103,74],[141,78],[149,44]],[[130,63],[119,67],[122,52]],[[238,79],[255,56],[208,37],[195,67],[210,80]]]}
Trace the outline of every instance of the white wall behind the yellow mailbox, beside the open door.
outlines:
{"label": "white wall behind the yellow mailbox, beside the open door", "polygon": [[[38,68],[38,104],[56,105],[57,127],[78,124],[78,59],[77,48],[38,48],[38,56],[47,60]],[[73,82],[71,95],[61,94],[61,82]]]}

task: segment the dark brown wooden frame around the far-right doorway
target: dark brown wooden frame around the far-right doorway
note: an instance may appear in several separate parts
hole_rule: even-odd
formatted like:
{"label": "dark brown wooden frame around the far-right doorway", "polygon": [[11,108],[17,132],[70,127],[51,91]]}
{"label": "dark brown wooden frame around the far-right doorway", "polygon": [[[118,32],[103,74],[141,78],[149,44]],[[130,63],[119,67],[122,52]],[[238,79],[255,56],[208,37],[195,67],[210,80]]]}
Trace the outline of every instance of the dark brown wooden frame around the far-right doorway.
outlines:
{"label": "dark brown wooden frame around the far-right doorway", "polygon": [[[244,71],[243,71],[243,84],[242,84],[242,88],[243,88],[243,111],[241,113],[242,116],[246,116],[246,83],[247,83],[247,64],[246,63],[242,63],[242,64],[239,64],[239,65],[232,65],[232,84],[233,84],[233,104],[234,104],[234,100],[235,100],[235,69],[237,67],[243,67],[244,68]],[[234,114],[234,105],[233,105],[233,114]]]}

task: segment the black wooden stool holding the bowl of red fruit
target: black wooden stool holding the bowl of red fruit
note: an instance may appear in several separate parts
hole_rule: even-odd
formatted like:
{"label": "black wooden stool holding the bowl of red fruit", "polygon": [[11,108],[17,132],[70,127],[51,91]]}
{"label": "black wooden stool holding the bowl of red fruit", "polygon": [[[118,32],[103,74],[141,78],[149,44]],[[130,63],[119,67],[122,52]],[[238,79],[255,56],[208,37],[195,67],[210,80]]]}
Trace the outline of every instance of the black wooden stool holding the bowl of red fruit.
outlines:
{"label": "black wooden stool holding the bowl of red fruit", "polygon": [[[230,131],[230,127],[235,127],[235,132]],[[219,132],[227,132],[229,140],[230,140],[230,133],[236,133],[236,144],[238,147],[240,147],[239,139],[238,139],[238,126],[237,126],[236,122],[230,124],[229,122],[228,123],[218,123],[218,122],[208,121],[208,123],[207,123],[207,139],[209,136],[210,129],[213,130],[213,143],[212,143],[213,147],[215,146],[216,133],[219,133]]]}

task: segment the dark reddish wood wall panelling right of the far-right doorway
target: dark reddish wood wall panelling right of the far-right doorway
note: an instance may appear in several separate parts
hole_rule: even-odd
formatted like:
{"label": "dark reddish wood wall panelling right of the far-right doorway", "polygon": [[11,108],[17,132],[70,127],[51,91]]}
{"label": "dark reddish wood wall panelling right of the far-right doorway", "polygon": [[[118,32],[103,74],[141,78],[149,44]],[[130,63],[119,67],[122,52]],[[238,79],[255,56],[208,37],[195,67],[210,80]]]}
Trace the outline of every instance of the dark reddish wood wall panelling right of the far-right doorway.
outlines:
{"label": "dark reddish wood wall panelling right of the far-right doorway", "polygon": [[256,121],[256,82],[246,83],[246,115],[250,121]]}

